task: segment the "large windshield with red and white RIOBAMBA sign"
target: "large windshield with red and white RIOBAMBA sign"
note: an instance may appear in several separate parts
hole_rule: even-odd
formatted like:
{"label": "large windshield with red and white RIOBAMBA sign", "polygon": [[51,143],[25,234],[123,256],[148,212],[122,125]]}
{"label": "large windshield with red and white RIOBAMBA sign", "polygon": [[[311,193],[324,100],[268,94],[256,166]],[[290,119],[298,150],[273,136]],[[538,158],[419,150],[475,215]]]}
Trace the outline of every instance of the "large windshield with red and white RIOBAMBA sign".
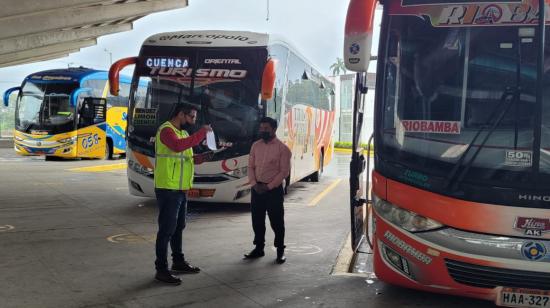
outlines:
{"label": "large windshield with red and white RIOBAMBA sign", "polygon": [[535,26],[437,28],[416,16],[387,22],[380,169],[448,195],[480,186],[542,190],[550,180],[550,93],[541,126]]}

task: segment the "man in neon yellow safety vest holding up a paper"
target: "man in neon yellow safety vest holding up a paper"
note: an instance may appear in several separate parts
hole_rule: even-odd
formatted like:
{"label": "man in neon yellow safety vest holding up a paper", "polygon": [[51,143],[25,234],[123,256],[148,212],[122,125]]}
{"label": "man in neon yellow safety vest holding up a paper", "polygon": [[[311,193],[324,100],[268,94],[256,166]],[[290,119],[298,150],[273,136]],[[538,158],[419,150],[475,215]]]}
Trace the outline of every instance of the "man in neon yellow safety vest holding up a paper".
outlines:
{"label": "man in neon yellow safety vest holding up a paper", "polygon": [[189,136],[182,129],[193,125],[197,110],[186,105],[176,105],[172,117],[163,123],[155,140],[155,194],[159,207],[159,230],[156,240],[155,279],[179,285],[181,279],[168,271],[168,243],[172,248],[172,271],[198,273],[198,267],[185,261],[182,251],[182,233],[187,214],[187,191],[193,184],[194,160],[192,147],[198,145],[212,131],[204,125]]}

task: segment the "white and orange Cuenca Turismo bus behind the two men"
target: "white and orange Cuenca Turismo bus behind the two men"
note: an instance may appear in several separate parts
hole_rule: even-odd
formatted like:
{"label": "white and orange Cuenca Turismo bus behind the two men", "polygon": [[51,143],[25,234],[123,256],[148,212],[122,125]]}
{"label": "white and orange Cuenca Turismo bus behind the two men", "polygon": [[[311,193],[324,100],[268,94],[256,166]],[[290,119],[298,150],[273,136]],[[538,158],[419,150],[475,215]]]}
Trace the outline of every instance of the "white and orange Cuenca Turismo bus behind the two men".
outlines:
{"label": "white and orange Cuenca Turismo bus behind the two men", "polygon": [[[248,153],[263,116],[278,120],[277,135],[292,150],[287,183],[317,181],[330,162],[333,85],[282,41],[252,32],[157,34],[145,40],[138,57],[113,64],[114,93],[118,72],[130,64],[136,65],[127,152],[134,195],[154,196],[154,136],[175,104],[196,107],[198,127],[211,124],[220,147],[210,161],[196,166],[190,200],[250,202]],[[148,84],[147,90],[138,84]],[[195,153],[205,151],[195,148]]]}

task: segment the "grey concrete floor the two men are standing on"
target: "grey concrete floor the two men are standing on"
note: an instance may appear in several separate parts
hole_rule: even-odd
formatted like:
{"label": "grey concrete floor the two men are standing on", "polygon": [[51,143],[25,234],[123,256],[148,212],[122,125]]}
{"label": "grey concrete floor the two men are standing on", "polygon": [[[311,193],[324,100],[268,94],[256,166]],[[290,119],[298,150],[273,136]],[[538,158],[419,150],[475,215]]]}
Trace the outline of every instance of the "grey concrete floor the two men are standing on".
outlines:
{"label": "grey concrete floor the two men are standing on", "polygon": [[192,205],[184,250],[202,272],[166,286],[153,280],[155,200],[130,196],[125,170],[69,170],[124,161],[45,162],[0,149],[0,307],[491,306],[332,274],[349,233],[347,161],[337,156],[320,183],[292,187],[283,265],[270,249],[242,259],[252,248],[247,206]]}

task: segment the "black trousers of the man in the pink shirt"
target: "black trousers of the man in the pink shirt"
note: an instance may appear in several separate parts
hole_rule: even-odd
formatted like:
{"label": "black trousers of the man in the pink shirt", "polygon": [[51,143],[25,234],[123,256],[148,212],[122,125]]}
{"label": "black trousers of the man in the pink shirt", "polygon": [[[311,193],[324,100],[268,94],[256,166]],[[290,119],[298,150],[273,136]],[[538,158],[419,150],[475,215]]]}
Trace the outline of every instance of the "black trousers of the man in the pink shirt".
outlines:
{"label": "black trousers of the man in the pink shirt", "polygon": [[252,189],[251,206],[254,245],[260,248],[265,246],[265,213],[267,212],[271,228],[275,232],[275,247],[285,247],[285,210],[283,202],[284,193],[282,185],[261,195]]}

